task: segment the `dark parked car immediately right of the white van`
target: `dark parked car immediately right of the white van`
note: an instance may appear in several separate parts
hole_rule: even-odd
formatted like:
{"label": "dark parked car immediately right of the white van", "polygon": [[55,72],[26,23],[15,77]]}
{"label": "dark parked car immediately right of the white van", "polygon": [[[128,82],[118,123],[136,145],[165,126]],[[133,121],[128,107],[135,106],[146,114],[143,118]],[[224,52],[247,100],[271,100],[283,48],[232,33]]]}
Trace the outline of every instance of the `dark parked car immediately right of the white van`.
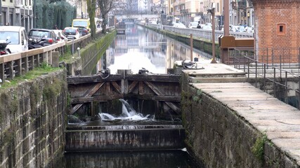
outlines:
{"label": "dark parked car immediately right of the white van", "polygon": [[29,42],[41,41],[41,38],[46,39],[44,46],[58,42],[58,37],[51,29],[30,29],[28,32]]}

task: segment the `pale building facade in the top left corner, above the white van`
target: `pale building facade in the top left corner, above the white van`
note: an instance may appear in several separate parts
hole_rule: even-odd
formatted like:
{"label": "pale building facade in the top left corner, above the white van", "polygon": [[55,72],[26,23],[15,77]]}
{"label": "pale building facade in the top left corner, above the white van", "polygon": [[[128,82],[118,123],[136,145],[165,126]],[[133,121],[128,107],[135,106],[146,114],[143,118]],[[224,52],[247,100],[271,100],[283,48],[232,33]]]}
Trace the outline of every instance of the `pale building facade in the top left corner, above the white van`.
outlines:
{"label": "pale building facade in the top left corner, above the white van", "polygon": [[33,28],[33,0],[1,0],[0,25],[22,26],[27,31]]}

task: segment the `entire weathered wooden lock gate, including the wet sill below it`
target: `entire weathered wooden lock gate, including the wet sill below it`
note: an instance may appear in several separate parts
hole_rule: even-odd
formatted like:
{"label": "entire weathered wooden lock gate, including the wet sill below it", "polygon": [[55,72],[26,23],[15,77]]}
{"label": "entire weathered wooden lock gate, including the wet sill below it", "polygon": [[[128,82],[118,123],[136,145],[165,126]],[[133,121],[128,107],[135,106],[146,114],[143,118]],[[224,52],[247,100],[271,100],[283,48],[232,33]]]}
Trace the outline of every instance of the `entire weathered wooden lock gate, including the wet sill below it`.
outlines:
{"label": "entire weathered wooden lock gate, including the wet sill below it", "polygon": [[[118,123],[101,119],[96,120],[96,125],[71,124],[65,132],[65,151],[147,151],[184,148],[185,132],[181,120],[173,120],[181,119],[180,78],[180,75],[131,74],[131,70],[121,70],[114,75],[100,73],[93,76],[68,77],[72,104],[69,114],[80,116],[82,111],[89,109],[91,116],[97,116],[97,106],[107,106],[105,104],[113,102],[111,109],[105,113],[117,116],[119,114],[114,112],[114,107],[118,106],[116,102],[119,102],[119,99],[128,99],[143,104],[139,105],[144,106],[141,108],[143,111],[137,110],[138,113],[151,114],[157,120],[168,121],[136,125],[134,122]],[[133,106],[133,109],[136,108]]]}

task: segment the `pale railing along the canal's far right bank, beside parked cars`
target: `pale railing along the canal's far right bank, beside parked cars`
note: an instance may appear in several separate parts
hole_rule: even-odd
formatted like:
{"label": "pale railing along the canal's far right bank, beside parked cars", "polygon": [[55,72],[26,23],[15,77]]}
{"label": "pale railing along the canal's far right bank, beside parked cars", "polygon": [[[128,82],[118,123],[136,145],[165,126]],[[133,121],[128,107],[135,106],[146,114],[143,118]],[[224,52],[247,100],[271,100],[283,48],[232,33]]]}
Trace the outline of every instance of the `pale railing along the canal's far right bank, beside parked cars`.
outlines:
{"label": "pale railing along the canal's far right bank, beside parked cars", "polygon": [[[212,37],[212,31],[211,30],[205,30],[205,29],[190,29],[190,28],[179,28],[179,27],[172,27],[172,26],[166,26],[166,25],[156,25],[152,23],[146,24],[148,27],[152,27],[155,29],[164,29],[167,31],[174,32],[176,34],[183,34],[185,36],[190,36],[190,34],[193,34],[193,37],[197,38],[204,38],[211,41]],[[219,36],[224,35],[224,32],[221,30],[215,31],[215,41],[219,41]],[[246,33],[246,32],[233,32],[230,31],[230,35],[235,36],[235,38],[253,38],[252,33]]]}

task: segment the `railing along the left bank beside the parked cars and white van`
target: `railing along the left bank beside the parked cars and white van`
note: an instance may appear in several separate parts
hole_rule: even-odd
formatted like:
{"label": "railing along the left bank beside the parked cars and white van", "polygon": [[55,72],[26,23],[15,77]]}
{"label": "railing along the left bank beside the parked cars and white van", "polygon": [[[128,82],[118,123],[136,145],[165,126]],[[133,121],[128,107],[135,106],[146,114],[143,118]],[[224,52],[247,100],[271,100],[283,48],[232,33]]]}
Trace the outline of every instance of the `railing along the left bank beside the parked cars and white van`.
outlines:
{"label": "railing along the left bank beside the parked cars and white van", "polygon": [[[114,27],[109,27],[108,29],[114,29]],[[96,37],[98,38],[100,35],[101,31],[97,31]],[[67,52],[67,50],[74,54],[77,52],[77,48],[84,48],[91,41],[91,34],[88,34],[72,41],[63,41],[43,48],[0,55],[0,79],[4,82],[15,78],[15,76],[24,75],[35,67],[39,67],[42,62],[53,65],[53,55],[58,57]]]}

